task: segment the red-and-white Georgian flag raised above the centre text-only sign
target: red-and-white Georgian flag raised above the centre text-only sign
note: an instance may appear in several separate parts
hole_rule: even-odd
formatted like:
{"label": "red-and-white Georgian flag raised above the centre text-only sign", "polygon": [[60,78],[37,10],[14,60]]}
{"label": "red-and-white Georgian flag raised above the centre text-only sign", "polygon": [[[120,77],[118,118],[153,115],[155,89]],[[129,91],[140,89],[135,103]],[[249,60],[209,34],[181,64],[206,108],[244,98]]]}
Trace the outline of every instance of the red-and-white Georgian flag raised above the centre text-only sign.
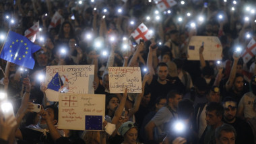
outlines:
{"label": "red-and-white Georgian flag raised above the centre text-only sign", "polygon": [[150,40],[152,38],[153,34],[148,30],[148,28],[145,26],[145,24],[141,23],[136,30],[134,30],[133,33],[131,33],[131,36],[135,39],[137,44],[139,44],[139,40]]}

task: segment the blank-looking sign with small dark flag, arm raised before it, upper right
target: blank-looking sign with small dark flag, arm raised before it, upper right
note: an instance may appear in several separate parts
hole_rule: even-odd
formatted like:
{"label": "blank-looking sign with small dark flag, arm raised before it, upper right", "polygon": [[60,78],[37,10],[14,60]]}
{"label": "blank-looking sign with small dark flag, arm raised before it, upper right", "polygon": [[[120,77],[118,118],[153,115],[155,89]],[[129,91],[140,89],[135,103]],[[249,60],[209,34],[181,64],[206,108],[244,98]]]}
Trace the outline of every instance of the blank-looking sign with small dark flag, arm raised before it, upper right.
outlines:
{"label": "blank-looking sign with small dark flag, arm raised before it, upper right", "polygon": [[222,44],[217,36],[193,36],[188,46],[188,60],[199,60],[199,48],[203,43],[203,58],[205,61],[222,59]]}

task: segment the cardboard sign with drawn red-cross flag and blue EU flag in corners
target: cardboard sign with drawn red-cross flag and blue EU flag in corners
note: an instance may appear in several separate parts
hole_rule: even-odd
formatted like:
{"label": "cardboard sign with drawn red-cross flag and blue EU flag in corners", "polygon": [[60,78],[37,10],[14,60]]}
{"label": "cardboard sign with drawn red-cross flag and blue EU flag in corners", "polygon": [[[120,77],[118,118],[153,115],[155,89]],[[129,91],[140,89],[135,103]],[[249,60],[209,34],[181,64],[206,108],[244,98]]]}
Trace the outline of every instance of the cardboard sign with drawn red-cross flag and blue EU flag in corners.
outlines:
{"label": "cardboard sign with drawn red-cross flag and blue EU flag in corners", "polygon": [[58,129],[102,131],[105,95],[59,93]]}

